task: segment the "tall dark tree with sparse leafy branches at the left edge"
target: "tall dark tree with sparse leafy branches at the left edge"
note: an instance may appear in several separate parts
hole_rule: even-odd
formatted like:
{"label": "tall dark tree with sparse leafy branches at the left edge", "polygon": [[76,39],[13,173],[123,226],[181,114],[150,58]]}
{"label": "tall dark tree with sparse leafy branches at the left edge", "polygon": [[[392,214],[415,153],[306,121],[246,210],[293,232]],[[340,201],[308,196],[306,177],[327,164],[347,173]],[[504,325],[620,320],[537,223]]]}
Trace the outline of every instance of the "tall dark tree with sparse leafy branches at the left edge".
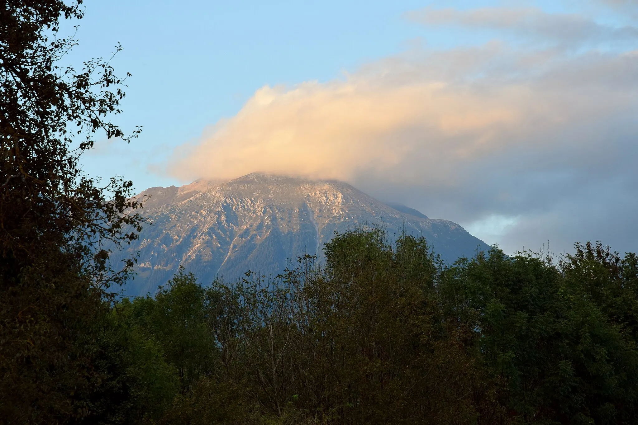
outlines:
{"label": "tall dark tree with sparse leafy branches at the left edge", "polygon": [[134,262],[114,270],[105,243],[134,240],[144,221],[131,182],[100,185],[78,164],[96,134],[139,131],[108,120],[124,97],[108,61],[59,66],[77,44],[59,22],[82,18],[81,3],[5,0],[0,11],[0,417],[10,423],[91,410],[104,297]]}

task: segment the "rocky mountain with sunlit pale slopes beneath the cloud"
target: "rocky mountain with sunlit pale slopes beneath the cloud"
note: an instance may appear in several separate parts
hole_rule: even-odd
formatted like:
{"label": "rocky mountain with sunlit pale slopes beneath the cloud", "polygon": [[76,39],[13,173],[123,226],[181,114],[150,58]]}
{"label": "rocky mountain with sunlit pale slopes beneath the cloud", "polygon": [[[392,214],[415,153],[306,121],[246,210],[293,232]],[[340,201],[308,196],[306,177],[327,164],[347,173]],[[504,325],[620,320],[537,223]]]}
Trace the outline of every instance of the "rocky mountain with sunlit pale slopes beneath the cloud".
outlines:
{"label": "rocky mountain with sunlit pale slopes beneath the cloud", "polygon": [[151,195],[142,213],[152,226],[113,256],[140,252],[129,295],[154,293],[180,265],[206,283],[216,276],[235,280],[248,270],[277,274],[304,252],[321,259],[334,232],[362,224],[381,223],[390,238],[403,230],[423,235],[446,261],[487,247],[458,224],[385,204],[334,180],[253,173],[225,183],[152,187],[144,195]]}

